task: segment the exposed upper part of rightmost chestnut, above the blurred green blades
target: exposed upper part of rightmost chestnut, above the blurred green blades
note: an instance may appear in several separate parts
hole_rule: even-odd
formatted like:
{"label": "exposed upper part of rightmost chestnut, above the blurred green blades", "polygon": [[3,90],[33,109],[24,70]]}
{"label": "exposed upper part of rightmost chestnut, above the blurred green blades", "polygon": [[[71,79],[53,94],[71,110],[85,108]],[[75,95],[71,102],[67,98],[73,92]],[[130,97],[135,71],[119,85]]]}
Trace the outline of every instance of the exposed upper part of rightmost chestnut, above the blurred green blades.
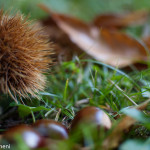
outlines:
{"label": "exposed upper part of rightmost chestnut, above the blurred green blades", "polygon": [[71,130],[79,126],[80,124],[84,125],[96,125],[104,127],[105,129],[111,128],[111,121],[108,115],[98,107],[85,107],[80,110],[71,124]]}

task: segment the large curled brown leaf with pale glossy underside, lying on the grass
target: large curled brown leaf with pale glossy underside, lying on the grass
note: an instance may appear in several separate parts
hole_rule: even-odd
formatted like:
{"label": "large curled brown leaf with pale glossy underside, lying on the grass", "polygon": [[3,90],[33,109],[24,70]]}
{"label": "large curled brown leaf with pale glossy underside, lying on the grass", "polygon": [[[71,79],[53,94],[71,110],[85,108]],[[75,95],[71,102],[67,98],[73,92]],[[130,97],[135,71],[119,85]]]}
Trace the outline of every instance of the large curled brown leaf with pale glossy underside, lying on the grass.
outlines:
{"label": "large curled brown leaf with pale glossy underside, lying on the grass", "polygon": [[[130,36],[107,29],[99,30],[97,27],[86,24],[76,18],[51,12],[46,6],[44,10],[84,52],[98,61],[125,67],[138,61],[146,60],[145,48]],[[43,8],[42,8],[43,9]]]}

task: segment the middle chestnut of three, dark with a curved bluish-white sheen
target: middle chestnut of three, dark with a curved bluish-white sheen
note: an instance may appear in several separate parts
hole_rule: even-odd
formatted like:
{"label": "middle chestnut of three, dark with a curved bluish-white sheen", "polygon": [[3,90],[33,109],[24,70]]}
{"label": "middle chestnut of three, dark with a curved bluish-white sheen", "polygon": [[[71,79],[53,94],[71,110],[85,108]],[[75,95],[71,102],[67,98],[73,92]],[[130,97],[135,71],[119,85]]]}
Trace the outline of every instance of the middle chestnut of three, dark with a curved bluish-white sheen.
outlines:
{"label": "middle chestnut of three, dark with a curved bluish-white sheen", "polygon": [[67,128],[54,120],[38,120],[33,127],[43,137],[56,140],[68,139]]}

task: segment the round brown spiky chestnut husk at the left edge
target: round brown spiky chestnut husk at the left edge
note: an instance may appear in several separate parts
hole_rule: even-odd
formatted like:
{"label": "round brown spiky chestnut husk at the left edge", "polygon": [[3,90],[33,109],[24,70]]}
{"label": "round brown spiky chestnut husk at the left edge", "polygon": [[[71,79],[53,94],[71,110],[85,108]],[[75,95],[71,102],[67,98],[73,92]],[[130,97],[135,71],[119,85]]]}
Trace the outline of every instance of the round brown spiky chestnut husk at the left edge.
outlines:
{"label": "round brown spiky chestnut husk at the left edge", "polygon": [[48,37],[31,23],[19,13],[0,11],[0,91],[14,100],[44,90],[43,73],[52,62]]}

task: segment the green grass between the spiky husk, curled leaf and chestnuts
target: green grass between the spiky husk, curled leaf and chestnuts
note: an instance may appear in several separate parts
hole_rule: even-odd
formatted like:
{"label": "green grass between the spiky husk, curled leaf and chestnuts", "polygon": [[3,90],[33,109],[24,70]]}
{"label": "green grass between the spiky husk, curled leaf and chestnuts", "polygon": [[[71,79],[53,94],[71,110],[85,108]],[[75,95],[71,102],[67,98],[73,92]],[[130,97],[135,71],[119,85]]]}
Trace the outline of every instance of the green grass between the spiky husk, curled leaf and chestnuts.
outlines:
{"label": "green grass between the spiky husk, curled leaf and chestnuts", "polygon": [[[40,118],[49,118],[69,125],[76,112],[85,106],[97,106],[102,109],[103,106],[109,106],[111,112],[119,114],[124,112],[140,121],[138,123],[140,127],[136,129],[139,131],[132,130],[124,139],[136,138],[137,134],[139,139],[145,139],[145,136],[150,133],[150,120],[145,121],[145,118],[149,115],[145,116],[141,113],[139,115],[139,112],[132,114],[132,112],[128,113],[128,111],[125,112],[122,110],[125,110],[129,106],[134,106],[130,99],[136,104],[140,104],[149,98],[149,95],[145,94],[145,92],[149,93],[149,85],[147,85],[149,76],[150,69],[141,72],[133,70],[131,73],[126,73],[123,70],[94,60],[79,60],[75,57],[70,62],[53,66],[51,73],[47,74],[47,89],[45,92],[39,94],[41,101],[36,99],[32,99],[31,101],[24,100],[26,105],[19,104],[18,111],[22,118],[32,115],[32,119],[28,123],[35,122],[35,120]],[[77,106],[76,103],[83,99],[89,99],[89,103]],[[16,106],[14,103],[12,105]],[[61,112],[59,114],[60,109]],[[149,108],[147,112],[148,110]],[[113,114],[108,113],[108,115],[113,124],[117,123]],[[141,128],[144,128],[144,130]],[[85,137],[87,135],[89,137],[86,139],[87,142],[94,144],[93,148],[100,146],[103,140],[111,134],[111,132],[102,132],[99,141],[95,141],[89,128],[84,127],[83,129],[82,132]],[[62,149],[63,145],[64,150],[71,149],[74,143],[78,141],[79,135],[80,133],[77,132],[69,141],[60,142],[60,148]],[[135,141],[130,142],[133,144]]]}

